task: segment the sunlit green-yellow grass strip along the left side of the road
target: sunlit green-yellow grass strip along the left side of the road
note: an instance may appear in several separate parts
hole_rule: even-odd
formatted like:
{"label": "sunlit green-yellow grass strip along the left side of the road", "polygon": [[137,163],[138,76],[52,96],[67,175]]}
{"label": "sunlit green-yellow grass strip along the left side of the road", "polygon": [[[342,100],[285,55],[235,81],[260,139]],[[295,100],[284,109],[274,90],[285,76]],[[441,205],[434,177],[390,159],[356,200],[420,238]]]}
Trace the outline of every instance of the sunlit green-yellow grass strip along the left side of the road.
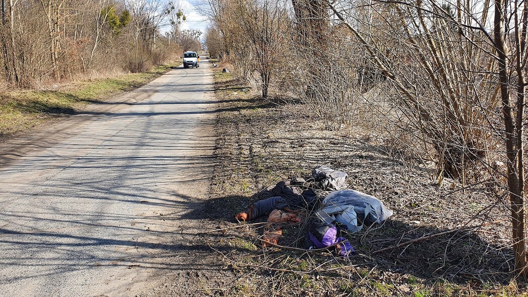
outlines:
{"label": "sunlit green-yellow grass strip along the left side of the road", "polygon": [[86,104],[141,87],[179,63],[155,66],[150,72],[79,81],[55,90],[8,90],[0,94],[0,137],[10,136],[54,118],[68,116]]}

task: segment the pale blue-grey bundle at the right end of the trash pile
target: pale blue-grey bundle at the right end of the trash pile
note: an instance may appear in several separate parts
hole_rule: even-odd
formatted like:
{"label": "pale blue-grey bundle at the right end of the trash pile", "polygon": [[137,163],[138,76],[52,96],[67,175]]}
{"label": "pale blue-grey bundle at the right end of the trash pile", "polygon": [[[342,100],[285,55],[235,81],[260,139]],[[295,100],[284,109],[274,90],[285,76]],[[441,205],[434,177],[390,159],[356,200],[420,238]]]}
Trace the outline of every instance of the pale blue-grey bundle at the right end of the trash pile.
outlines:
{"label": "pale blue-grey bundle at the right end of the trash pile", "polygon": [[327,224],[339,222],[346,226],[347,231],[359,232],[363,225],[385,221],[392,211],[374,196],[344,189],[328,194],[315,215]]}

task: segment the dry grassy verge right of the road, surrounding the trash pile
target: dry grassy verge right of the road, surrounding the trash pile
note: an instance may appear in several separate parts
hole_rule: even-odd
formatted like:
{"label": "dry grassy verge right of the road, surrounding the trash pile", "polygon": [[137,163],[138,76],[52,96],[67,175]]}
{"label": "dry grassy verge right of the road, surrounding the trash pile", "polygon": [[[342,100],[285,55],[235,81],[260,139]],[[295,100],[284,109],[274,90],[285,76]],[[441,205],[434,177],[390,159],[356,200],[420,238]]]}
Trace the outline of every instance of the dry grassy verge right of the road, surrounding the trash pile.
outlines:
{"label": "dry grassy verge right of the road, surrounding the trash pile", "polygon": [[[210,245],[238,281],[210,295],[272,296],[526,296],[509,274],[513,265],[504,197],[485,184],[462,188],[432,180],[425,165],[391,154],[390,137],[364,127],[330,131],[301,104],[253,100],[246,87],[216,72],[220,164],[206,208],[215,226],[236,226],[232,216],[262,187],[305,176],[316,165],[348,173],[348,187],[374,195],[394,215],[383,225],[347,234],[357,255],[262,248],[262,226],[227,229]],[[319,193],[321,196],[325,193]],[[286,227],[279,244],[308,247],[310,216]],[[489,222],[485,227],[464,229]],[[258,222],[258,221],[257,221]],[[408,246],[405,241],[452,231]],[[255,248],[256,247],[256,248]]]}

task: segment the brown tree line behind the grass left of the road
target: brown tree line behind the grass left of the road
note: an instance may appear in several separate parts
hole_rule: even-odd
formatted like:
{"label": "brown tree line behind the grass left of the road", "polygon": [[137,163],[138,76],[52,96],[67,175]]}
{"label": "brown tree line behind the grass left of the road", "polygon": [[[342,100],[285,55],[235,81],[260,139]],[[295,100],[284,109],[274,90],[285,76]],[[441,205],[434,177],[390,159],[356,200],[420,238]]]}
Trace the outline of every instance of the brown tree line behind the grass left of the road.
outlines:
{"label": "brown tree line behind the grass left of the road", "polygon": [[3,0],[2,4],[0,75],[7,87],[39,87],[116,71],[143,72],[181,56],[182,43],[189,43],[183,42],[188,36],[180,28],[186,16],[177,1]]}

